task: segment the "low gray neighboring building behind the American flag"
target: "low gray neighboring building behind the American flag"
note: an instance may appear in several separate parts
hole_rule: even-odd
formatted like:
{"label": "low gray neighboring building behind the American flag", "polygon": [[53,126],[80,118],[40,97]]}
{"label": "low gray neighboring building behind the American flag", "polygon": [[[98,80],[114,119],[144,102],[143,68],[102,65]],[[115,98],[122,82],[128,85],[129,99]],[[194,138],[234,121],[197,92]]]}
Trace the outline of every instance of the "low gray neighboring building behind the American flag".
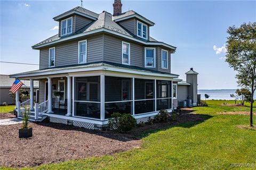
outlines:
{"label": "low gray neighboring building behind the American flag", "polygon": [[[9,75],[0,75],[0,105],[3,105],[3,103],[5,102],[7,105],[12,105],[15,104],[15,100],[13,100],[13,98],[9,95],[10,93],[10,89],[12,87],[12,83],[14,82],[14,78],[9,78]],[[30,81],[28,80],[24,80],[22,81],[23,84],[25,84],[26,86],[21,86],[21,89],[25,90],[25,91],[29,91],[30,89]],[[35,101],[37,96],[38,96],[38,90],[39,90],[39,82],[35,81],[34,83],[34,98]]]}

